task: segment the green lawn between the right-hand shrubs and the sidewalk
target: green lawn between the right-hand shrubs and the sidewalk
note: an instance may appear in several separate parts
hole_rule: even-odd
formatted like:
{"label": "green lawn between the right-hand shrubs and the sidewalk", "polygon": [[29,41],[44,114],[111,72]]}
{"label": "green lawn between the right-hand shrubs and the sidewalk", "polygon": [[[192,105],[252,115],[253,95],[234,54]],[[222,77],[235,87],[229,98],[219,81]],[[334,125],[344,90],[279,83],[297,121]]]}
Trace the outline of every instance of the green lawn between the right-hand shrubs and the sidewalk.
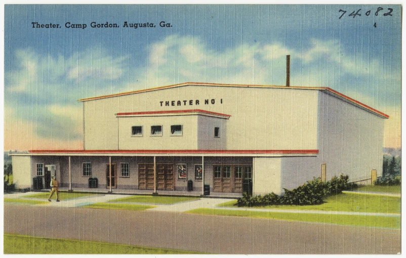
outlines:
{"label": "green lawn between the right-hand shrubs and the sidewalk", "polygon": [[[320,205],[269,205],[270,209],[337,210],[359,212],[400,213],[400,197],[387,197],[362,194],[337,194],[324,199]],[[222,203],[221,206],[237,207],[237,200]],[[243,207],[241,207],[243,208]]]}

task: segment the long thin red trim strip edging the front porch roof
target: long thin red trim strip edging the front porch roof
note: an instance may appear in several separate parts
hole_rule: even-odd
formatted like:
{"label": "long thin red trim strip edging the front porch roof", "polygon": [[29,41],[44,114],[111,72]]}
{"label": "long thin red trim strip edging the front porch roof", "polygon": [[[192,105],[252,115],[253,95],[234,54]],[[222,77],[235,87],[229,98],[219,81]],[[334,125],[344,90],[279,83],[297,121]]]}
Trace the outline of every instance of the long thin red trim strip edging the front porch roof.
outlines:
{"label": "long thin red trim strip edging the front porch roof", "polygon": [[30,150],[29,153],[318,154],[318,150]]}

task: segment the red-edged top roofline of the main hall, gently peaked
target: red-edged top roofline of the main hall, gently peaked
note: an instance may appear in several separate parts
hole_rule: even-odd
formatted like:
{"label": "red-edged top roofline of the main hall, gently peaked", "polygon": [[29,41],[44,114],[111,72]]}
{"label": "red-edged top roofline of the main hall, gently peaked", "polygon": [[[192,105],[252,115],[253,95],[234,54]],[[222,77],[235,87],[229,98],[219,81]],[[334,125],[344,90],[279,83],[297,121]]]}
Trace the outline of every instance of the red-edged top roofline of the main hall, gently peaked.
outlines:
{"label": "red-edged top roofline of the main hall, gently peaked", "polygon": [[123,92],[123,93],[117,93],[117,94],[110,94],[110,95],[104,95],[104,96],[98,96],[98,97],[91,97],[91,98],[85,98],[85,99],[79,99],[79,102],[85,102],[85,101],[91,101],[91,100],[98,100],[98,99],[105,99],[105,98],[112,98],[112,97],[118,97],[118,96],[125,96],[125,95],[131,95],[131,94],[138,94],[138,93],[144,93],[144,92],[151,92],[151,91],[158,91],[158,90],[164,90],[164,89],[171,89],[171,88],[178,88],[178,87],[185,87],[185,86],[212,86],[212,87],[243,87],[243,88],[270,88],[270,89],[299,89],[299,90],[318,90],[324,93],[327,93],[329,95],[332,95],[338,99],[341,99],[347,103],[353,104],[357,107],[360,107],[361,109],[367,110],[369,112],[372,112],[382,118],[389,118],[389,115],[374,109],[368,105],[365,105],[355,99],[352,99],[342,93],[339,93],[329,87],[306,87],[306,86],[286,86],[286,85],[261,85],[261,84],[227,84],[227,83],[207,83],[207,82],[183,82],[183,83],[178,83],[178,84],[172,84],[172,85],[166,85],[166,86],[161,86],[161,87],[155,87],[155,88],[149,88],[149,89],[144,89],[144,90],[137,90],[137,91],[130,91],[130,92]]}

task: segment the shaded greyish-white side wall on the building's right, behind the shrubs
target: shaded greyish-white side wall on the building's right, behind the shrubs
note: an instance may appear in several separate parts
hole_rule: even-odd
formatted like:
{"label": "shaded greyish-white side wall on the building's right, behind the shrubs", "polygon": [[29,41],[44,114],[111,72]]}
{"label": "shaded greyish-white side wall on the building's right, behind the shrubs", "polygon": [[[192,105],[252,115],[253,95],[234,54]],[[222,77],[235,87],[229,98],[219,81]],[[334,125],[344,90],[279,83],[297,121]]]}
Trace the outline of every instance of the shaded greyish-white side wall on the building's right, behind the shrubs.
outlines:
{"label": "shaded greyish-white side wall on the building's right, behind the shrubs", "polygon": [[282,187],[293,189],[320,177],[327,165],[327,180],[341,174],[351,182],[382,175],[385,119],[326,93],[318,98],[317,157],[282,158]]}

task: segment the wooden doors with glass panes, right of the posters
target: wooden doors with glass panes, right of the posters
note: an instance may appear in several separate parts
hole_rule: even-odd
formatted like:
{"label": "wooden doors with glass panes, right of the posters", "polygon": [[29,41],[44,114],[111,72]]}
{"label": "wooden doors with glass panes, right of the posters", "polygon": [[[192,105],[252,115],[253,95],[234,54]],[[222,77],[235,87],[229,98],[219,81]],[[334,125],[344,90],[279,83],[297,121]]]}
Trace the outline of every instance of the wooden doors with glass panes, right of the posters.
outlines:
{"label": "wooden doors with glass panes, right of the posters", "polygon": [[244,179],[252,179],[252,165],[213,166],[213,192],[242,193]]}

